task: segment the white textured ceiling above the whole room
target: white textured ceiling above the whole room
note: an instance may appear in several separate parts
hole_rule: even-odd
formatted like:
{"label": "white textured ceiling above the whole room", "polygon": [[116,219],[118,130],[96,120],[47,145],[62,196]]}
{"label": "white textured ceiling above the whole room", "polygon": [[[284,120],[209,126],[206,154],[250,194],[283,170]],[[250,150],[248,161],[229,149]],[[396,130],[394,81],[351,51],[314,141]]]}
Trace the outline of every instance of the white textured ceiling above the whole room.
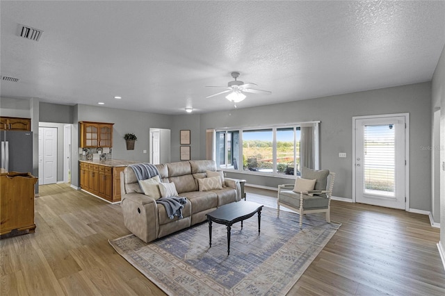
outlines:
{"label": "white textured ceiling above the whole room", "polygon": [[[181,114],[430,81],[444,1],[1,1],[1,97]],[[19,24],[44,31],[19,38]],[[114,96],[122,99],[113,99]]]}

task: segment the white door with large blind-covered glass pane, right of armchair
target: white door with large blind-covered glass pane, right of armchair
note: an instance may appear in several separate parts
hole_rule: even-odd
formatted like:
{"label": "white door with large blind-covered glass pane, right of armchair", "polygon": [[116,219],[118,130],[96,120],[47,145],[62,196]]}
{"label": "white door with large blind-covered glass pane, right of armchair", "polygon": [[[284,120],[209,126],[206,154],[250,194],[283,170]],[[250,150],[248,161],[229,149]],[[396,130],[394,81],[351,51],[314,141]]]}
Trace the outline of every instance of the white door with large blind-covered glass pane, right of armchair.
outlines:
{"label": "white door with large blind-covered glass pane, right of armchair", "polygon": [[406,117],[355,117],[356,202],[407,208]]}

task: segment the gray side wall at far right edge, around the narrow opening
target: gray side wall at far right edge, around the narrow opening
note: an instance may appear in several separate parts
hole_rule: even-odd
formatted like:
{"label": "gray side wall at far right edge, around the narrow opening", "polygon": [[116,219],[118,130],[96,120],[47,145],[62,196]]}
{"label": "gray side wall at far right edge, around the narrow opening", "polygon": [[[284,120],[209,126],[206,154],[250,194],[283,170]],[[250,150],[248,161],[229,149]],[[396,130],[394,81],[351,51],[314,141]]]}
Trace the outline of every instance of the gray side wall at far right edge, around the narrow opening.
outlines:
{"label": "gray side wall at far right edge, around the narrow opening", "polygon": [[[445,47],[442,49],[439,62],[432,76],[432,106],[440,108],[440,242],[442,252],[445,252]],[[432,110],[434,112],[434,110]],[[443,254],[445,255],[445,254]],[[443,257],[442,257],[443,259]],[[445,262],[444,262],[445,264]]]}

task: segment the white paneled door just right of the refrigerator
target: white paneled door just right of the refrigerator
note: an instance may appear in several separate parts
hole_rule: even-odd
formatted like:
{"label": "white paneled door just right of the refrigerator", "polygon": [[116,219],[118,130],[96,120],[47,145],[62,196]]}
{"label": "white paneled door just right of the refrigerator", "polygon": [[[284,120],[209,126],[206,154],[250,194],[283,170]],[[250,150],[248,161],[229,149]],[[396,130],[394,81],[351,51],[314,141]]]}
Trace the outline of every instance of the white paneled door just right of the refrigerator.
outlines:
{"label": "white paneled door just right of the refrigerator", "polygon": [[39,127],[39,185],[57,183],[57,128]]}

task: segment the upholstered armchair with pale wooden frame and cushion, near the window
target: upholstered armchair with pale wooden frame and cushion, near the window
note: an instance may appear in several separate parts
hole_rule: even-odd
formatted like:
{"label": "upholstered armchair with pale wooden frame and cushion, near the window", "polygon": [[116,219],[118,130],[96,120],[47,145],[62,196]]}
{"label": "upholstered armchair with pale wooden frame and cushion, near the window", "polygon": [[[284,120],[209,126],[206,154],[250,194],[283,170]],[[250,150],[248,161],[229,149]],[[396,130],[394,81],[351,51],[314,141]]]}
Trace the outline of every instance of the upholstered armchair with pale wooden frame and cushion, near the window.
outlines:
{"label": "upholstered armchair with pale wooden frame and cushion, near the window", "polygon": [[301,178],[295,184],[278,186],[277,216],[280,217],[280,206],[300,214],[300,228],[303,215],[325,213],[326,222],[330,223],[330,202],[334,187],[335,173],[329,170],[314,171],[302,167]]}

